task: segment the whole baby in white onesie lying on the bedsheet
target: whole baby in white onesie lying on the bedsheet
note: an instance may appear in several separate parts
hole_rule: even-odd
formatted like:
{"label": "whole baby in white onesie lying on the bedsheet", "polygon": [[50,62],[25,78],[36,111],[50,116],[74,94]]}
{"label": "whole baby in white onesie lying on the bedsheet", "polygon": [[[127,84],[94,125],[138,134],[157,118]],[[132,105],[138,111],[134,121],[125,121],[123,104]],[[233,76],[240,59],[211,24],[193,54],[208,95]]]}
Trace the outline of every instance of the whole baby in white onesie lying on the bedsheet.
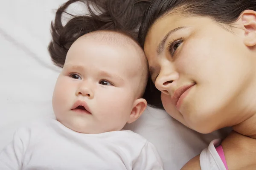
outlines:
{"label": "whole baby in white onesie lying on the bedsheet", "polygon": [[146,108],[148,66],[131,37],[93,31],[69,48],[52,98],[56,119],[16,131],[0,170],[163,170],[156,148],[122,130]]}

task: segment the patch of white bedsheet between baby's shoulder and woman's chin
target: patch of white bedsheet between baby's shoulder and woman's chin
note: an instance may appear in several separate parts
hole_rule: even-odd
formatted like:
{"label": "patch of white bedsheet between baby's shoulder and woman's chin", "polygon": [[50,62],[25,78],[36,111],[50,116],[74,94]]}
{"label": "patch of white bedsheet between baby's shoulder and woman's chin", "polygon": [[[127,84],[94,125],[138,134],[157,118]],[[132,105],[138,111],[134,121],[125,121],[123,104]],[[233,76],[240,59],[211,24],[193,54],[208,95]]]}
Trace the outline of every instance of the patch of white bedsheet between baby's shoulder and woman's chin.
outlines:
{"label": "patch of white bedsheet between baby's shoulder and woman's chin", "polygon": [[229,128],[210,134],[197,133],[177,120],[166,111],[148,107],[140,119],[125,129],[133,130],[144,136],[157,147],[166,170],[180,168],[208,146],[213,139],[221,138],[230,132]]}

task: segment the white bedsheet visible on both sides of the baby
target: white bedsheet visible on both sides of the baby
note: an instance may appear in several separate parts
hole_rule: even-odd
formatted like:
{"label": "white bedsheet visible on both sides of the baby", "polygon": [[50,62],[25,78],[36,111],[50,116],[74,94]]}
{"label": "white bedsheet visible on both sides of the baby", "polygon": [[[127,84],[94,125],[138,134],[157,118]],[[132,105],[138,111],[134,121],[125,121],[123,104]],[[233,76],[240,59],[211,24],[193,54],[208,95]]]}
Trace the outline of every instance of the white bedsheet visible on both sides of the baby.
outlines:
{"label": "white bedsheet visible on both sides of the baby", "polygon": [[[0,5],[0,150],[20,125],[54,116],[51,98],[60,69],[52,65],[47,45],[50,21],[65,1],[6,0]],[[166,170],[180,169],[220,136],[195,133],[153,108],[125,128],[157,147]]]}

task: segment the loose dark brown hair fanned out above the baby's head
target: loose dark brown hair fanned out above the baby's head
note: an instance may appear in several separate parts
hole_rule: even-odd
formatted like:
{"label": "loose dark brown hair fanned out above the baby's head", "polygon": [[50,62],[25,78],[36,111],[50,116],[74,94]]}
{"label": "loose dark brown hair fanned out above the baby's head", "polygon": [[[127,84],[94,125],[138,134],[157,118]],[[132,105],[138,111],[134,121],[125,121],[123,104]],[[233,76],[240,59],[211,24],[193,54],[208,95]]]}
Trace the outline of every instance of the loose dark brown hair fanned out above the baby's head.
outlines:
{"label": "loose dark brown hair fanned out above the baby's head", "polygon": [[[87,14],[73,15],[67,8],[76,2],[88,9]],[[152,0],[69,0],[60,6],[51,25],[52,41],[48,50],[55,65],[63,67],[67,51],[84,34],[110,30],[120,32],[137,42],[143,13]],[[63,15],[71,19],[64,25]]]}

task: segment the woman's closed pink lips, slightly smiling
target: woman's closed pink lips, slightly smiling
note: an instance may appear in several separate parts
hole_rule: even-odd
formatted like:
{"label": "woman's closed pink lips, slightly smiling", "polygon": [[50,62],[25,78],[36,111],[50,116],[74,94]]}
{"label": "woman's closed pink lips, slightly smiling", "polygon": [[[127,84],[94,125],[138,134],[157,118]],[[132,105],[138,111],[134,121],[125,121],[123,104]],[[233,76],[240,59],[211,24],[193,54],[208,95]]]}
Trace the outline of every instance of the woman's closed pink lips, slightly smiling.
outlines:
{"label": "woman's closed pink lips, slightly smiling", "polygon": [[180,105],[182,104],[183,99],[187,96],[189,93],[189,90],[194,86],[195,84],[191,85],[184,85],[178,89],[175,90],[173,96],[172,96],[172,102],[175,104],[176,108],[179,109]]}

